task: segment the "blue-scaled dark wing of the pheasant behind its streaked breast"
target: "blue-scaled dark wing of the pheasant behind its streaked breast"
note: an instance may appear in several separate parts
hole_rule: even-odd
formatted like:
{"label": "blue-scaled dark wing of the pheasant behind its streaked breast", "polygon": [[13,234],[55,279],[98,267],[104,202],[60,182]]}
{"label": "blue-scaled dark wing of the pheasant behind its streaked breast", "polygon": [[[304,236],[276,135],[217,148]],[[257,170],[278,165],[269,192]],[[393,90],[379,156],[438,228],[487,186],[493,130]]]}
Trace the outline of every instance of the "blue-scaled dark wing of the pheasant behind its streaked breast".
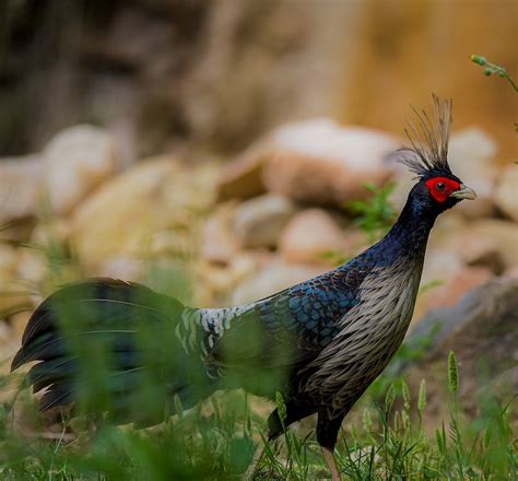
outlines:
{"label": "blue-scaled dark wing of the pheasant behind its streaked breast", "polygon": [[209,362],[267,368],[309,362],[338,335],[362,279],[357,269],[335,270],[242,307],[209,337]]}

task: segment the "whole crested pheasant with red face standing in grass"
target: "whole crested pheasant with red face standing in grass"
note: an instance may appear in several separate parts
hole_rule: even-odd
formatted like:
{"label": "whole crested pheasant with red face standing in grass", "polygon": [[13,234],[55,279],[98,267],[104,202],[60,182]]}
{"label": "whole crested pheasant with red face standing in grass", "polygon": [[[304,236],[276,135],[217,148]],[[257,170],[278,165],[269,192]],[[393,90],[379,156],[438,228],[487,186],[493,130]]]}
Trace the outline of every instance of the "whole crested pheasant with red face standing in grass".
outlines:
{"label": "whole crested pheasant with red face standing in grass", "polygon": [[11,369],[37,362],[27,376],[34,392],[45,389],[42,411],[79,404],[137,427],[221,389],[280,394],[285,408],[269,415],[268,442],[317,414],[316,438],[339,480],[339,430],[403,341],[431,230],[439,214],[476,197],[448,164],[451,109],[451,99],[435,94],[431,115],[413,108],[416,124],[404,129],[410,144],[399,161],[415,184],[385,237],[346,263],[225,308],[186,306],[121,280],[68,284],[35,309]]}

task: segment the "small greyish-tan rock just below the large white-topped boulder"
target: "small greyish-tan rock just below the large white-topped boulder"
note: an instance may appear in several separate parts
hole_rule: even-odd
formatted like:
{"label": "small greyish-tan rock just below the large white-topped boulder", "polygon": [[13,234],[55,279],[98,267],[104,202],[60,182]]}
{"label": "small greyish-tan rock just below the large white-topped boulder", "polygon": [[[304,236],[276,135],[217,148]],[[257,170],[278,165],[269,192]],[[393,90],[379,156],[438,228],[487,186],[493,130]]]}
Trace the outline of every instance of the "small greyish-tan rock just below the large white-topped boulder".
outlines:
{"label": "small greyish-tan rock just below the large white-topped boulder", "polygon": [[245,248],[274,247],[294,212],[295,206],[290,199],[266,193],[238,207],[233,230]]}

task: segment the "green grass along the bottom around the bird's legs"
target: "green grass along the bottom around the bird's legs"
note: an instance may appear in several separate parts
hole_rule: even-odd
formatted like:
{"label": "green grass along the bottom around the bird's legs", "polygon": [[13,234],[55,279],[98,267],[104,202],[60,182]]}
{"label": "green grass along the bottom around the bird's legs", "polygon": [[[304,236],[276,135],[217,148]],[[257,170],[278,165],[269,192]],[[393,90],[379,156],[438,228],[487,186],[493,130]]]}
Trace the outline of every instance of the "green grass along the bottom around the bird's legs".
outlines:
{"label": "green grass along the bottom around the bird's legs", "polygon": [[[487,398],[472,420],[459,406],[459,376],[451,353],[445,363],[449,418],[426,420],[426,386],[414,403],[403,380],[389,384],[385,400],[364,397],[346,419],[337,446],[344,479],[516,480],[518,439],[513,431],[517,399]],[[15,383],[2,377],[3,388]],[[217,392],[160,426],[133,430],[97,417],[63,420],[54,435],[22,388],[15,420],[5,402],[0,420],[2,480],[199,480],[238,479],[255,447],[264,443],[268,404],[244,391]],[[282,399],[278,399],[282,408]],[[282,409],[281,409],[282,411]],[[310,422],[304,423],[310,426]],[[427,429],[424,425],[427,425]],[[57,429],[56,429],[57,427]],[[22,432],[23,429],[23,432]],[[289,431],[267,445],[258,480],[314,480],[329,476],[313,429]]]}

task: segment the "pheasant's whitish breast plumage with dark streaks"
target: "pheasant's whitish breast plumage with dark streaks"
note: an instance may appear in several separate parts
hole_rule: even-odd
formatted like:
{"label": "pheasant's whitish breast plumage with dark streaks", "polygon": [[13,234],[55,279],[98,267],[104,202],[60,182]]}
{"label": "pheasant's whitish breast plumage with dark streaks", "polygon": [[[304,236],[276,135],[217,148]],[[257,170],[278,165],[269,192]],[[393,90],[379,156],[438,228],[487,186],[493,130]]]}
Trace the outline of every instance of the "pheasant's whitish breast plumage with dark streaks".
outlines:
{"label": "pheasant's whitish breast plumage with dark streaks", "polygon": [[374,269],[362,282],[360,302],[340,320],[339,336],[317,360],[305,390],[335,410],[352,406],[400,347],[420,279],[420,265]]}

